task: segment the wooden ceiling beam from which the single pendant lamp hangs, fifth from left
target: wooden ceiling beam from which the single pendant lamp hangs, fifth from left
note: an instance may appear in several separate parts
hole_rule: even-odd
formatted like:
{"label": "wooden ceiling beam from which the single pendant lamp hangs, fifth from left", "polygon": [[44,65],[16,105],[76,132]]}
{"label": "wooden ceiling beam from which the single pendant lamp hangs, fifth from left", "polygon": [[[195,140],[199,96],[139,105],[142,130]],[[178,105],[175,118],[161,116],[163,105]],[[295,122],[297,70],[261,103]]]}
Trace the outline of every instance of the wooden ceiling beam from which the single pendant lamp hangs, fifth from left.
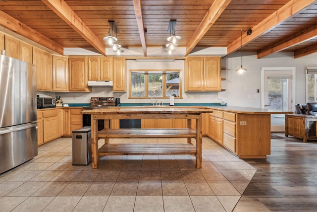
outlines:
{"label": "wooden ceiling beam from which the single pendant lamp hangs, fifth from left", "polygon": [[[269,30],[272,30],[276,26],[283,23],[285,20],[291,18],[293,15],[301,12],[306,7],[311,4],[316,3],[316,0],[290,0],[288,3],[283,5],[281,8],[273,12],[259,24],[252,28],[251,35],[242,35],[242,46],[254,41],[259,38],[261,35],[265,34]],[[231,44],[227,46],[227,54],[231,54],[238,50],[241,46],[241,38],[239,36],[238,39],[233,41]]]}

